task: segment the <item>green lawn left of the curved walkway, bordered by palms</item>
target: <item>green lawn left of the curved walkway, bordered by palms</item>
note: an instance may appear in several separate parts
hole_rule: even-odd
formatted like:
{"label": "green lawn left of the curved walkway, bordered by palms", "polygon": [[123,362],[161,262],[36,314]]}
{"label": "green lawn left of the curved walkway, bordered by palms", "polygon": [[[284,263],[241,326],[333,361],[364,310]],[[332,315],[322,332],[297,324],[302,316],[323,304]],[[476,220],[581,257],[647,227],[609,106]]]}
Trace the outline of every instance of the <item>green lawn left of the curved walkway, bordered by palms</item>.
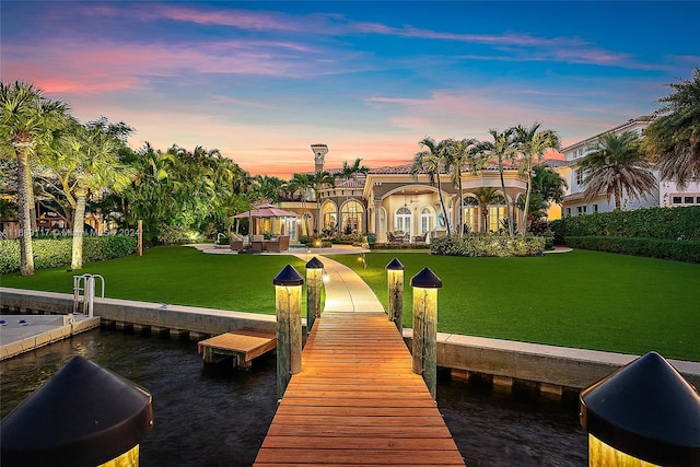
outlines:
{"label": "green lawn left of the curved walkway, bordered by palms", "polygon": [[[294,256],[210,255],[191,247],[163,246],[80,271],[37,270],[32,277],[5,275],[0,284],[20,289],[73,293],[73,275],[105,278],[105,296],[177,305],[275,314],[272,279],[288,264],[305,276]],[[96,283],[100,294],[100,281]]]}

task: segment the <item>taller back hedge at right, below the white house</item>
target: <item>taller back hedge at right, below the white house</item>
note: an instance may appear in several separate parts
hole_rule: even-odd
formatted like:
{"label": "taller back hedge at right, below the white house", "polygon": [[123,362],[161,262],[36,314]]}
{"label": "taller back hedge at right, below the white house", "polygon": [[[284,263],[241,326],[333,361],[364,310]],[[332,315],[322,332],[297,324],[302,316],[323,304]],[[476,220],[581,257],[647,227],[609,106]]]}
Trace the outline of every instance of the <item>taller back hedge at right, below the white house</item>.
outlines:
{"label": "taller back hedge at right, below the white house", "polygon": [[556,243],[570,236],[612,236],[700,241],[700,206],[642,208],[558,219],[550,223]]}

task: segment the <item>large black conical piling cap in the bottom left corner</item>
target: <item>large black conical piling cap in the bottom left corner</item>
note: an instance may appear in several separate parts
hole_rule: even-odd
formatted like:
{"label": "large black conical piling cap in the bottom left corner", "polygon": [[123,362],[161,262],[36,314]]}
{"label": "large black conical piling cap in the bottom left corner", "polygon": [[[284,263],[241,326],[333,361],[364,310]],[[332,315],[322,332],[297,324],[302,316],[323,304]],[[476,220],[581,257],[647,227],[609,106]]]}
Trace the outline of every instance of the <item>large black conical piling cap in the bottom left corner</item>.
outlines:
{"label": "large black conical piling cap in the bottom left corner", "polygon": [[104,464],[151,432],[151,400],[128,380],[74,357],[0,422],[0,464]]}

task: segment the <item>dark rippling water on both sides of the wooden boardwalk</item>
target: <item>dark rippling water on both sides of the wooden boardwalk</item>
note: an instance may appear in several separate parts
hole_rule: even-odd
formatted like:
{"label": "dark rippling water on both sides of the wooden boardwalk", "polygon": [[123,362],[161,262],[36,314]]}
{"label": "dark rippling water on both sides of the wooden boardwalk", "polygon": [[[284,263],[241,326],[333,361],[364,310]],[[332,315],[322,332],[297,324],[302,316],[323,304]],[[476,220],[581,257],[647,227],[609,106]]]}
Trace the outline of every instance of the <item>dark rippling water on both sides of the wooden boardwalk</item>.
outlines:
{"label": "dark rippling water on both sides of the wooden boardwalk", "polygon": [[[249,466],[276,409],[275,357],[249,372],[205,367],[194,342],[95,330],[0,363],[0,416],[80,354],[147,388],[154,428],[142,467]],[[438,404],[467,466],[585,466],[575,404],[498,396],[460,381]]]}

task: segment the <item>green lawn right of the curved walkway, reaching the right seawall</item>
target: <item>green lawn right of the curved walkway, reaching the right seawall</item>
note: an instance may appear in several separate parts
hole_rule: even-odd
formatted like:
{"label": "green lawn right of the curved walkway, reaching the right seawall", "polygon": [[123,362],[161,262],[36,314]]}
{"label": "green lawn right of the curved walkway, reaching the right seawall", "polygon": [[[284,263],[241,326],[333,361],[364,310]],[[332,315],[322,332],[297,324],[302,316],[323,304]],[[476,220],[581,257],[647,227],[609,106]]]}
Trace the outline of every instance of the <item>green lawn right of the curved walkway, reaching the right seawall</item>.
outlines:
{"label": "green lawn right of the curved walkway, reaching the right seawall", "polygon": [[366,269],[357,256],[332,259],[387,303],[385,267],[394,257],[406,268],[406,327],[410,279],[429,267],[443,281],[440,331],[700,361],[700,265],[588,250],[532,258],[372,253]]}

